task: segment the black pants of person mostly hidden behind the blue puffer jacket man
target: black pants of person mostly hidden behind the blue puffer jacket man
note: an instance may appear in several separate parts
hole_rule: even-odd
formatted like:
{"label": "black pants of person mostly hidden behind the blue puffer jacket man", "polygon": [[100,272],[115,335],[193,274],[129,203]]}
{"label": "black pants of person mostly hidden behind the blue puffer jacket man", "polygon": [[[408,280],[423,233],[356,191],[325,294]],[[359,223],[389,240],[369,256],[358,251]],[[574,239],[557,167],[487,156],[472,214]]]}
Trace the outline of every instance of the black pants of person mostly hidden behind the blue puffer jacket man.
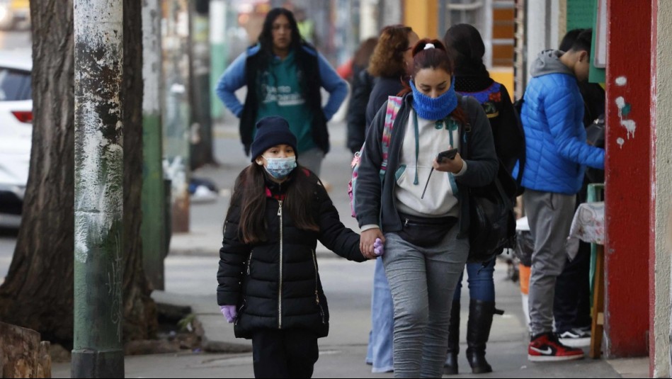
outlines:
{"label": "black pants of person mostly hidden behind the blue puffer jacket man", "polygon": [[553,315],[557,332],[591,326],[591,244],[579,242],[573,261],[566,259],[555,283]]}

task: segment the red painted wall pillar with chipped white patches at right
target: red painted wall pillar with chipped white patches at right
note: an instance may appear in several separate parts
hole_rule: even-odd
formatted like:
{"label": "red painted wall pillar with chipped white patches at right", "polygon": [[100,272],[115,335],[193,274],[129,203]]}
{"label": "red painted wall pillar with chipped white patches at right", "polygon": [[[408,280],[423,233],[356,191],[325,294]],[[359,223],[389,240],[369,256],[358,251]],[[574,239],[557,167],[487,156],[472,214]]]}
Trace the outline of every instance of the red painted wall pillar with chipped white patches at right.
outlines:
{"label": "red painted wall pillar with chipped white patches at right", "polygon": [[[654,210],[650,179],[651,3],[608,0],[607,9],[605,355],[646,356],[653,238],[649,224]],[[616,84],[619,77],[625,77],[627,84]],[[625,103],[622,110],[618,103]],[[650,267],[653,269],[652,264]]]}

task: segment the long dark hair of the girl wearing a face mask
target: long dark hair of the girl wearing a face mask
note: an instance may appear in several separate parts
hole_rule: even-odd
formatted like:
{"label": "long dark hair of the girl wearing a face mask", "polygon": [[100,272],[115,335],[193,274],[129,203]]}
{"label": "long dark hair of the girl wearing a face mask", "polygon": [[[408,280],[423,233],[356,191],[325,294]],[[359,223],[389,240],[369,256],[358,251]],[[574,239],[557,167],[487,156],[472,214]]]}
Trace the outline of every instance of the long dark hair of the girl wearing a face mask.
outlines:
{"label": "long dark hair of the girl wearing a face mask", "polygon": [[[287,192],[283,209],[294,220],[300,230],[319,232],[315,220],[316,195],[310,181],[308,171],[297,166],[287,178]],[[231,205],[227,212],[227,220],[232,215],[234,204],[240,205],[238,234],[246,244],[266,241],[266,182],[263,166],[256,163],[244,169],[234,186]],[[317,179],[316,179],[317,180]]]}

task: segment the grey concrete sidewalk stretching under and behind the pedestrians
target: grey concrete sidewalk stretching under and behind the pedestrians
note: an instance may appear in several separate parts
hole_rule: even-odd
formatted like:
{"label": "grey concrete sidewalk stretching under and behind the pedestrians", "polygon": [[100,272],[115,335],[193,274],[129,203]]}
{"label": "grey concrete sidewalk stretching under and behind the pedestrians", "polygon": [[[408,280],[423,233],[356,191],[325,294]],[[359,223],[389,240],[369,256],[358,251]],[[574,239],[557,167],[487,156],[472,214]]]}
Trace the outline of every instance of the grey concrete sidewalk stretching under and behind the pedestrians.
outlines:
{"label": "grey concrete sidewalk stretching under and behind the pedestrians", "polygon": [[[343,123],[330,125],[332,149],[323,164],[322,178],[331,184],[330,196],[343,223],[358,231],[350,216],[347,183],[351,176],[350,153],[345,148]],[[191,205],[191,232],[173,234],[171,253],[166,258],[166,290],[155,291],[157,302],[190,305],[205,331],[205,350],[228,353],[178,353],[129,356],[125,359],[127,378],[252,378],[251,344],[235,339],[233,327],[220,314],[215,289],[218,249],[222,223],[230,191],[249,158],[233,126],[216,130],[216,155],[219,167],[206,167],[193,176],[211,179],[220,187],[220,197],[210,203]],[[318,249],[319,272],[331,311],[331,332],[319,340],[320,358],[314,378],[392,378],[392,373],[372,374],[365,365],[370,330],[370,293],[374,262],[355,264],[330,251]],[[647,377],[648,358],[531,363],[527,360],[529,336],[525,325],[518,283],[506,276],[506,265],[495,271],[497,307],[506,311],[496,316],[488,344],[487,357],[494,368],[489,377],[501,378],[619,378]],[[466,287],[466,283],[465,283]],[[462,304],[468,304],[468,291],[462,291]],[[464,356],[468,306],[462,306],[462,346],[460,374],[473,377]],[[69,377],[69,364],[55,364],[54,378]]]}

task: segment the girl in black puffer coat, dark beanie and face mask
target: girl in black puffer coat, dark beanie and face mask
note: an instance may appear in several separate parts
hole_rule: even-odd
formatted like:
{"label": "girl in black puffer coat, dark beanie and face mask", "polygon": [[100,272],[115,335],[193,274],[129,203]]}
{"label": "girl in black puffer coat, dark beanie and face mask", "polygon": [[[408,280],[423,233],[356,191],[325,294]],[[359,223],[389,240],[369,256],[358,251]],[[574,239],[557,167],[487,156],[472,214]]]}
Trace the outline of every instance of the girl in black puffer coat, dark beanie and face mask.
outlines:
{"label": "girl in black puffer coat, dark beanie and face mask", "polygon": [[329,310],[317,241],[351,261],[359,235],[343,226],[317,176],[296,164],[287,120],[262,118],[252,164],[238,176],[224,222],[217,303],[239,338],[252,339],[257,378],[309,378]]}

